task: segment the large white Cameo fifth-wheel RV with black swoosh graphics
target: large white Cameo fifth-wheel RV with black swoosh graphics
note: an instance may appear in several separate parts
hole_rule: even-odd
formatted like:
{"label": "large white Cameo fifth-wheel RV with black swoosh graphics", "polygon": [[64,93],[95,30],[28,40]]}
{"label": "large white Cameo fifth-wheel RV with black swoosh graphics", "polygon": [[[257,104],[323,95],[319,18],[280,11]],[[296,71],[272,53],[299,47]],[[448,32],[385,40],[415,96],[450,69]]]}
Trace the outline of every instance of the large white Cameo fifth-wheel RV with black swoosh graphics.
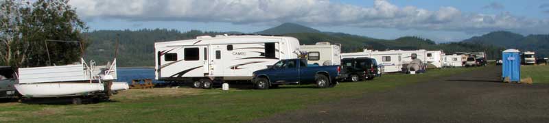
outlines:
{"label": "large white Cameo fifth-wheel RV with black swoosh graphics", "polygon": [[254,71],[300,53],[299,40],[283,36],[200,36],[156,42],[154,48],[155,79],[205,88],[213,81],[248,81]]}

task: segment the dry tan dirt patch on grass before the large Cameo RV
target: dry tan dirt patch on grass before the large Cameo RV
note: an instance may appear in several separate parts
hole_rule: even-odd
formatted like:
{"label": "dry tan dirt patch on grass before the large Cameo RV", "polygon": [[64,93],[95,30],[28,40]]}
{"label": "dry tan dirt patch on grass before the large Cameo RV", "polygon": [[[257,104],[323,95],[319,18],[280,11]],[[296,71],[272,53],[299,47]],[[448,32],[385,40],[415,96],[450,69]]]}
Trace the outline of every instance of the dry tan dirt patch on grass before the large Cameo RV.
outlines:
{"label": "dry tan dirt patch on grass before the large Cameo RV", "polygon": [[175,97],[175,96],[190,96],[190,95],[199,95],[205,90],[194,89],[194,88],[153,88],[146,90],[125,90],[119,92],[111,97],[112,100],[139,100],[143,98],[152,98],[152,97]]}

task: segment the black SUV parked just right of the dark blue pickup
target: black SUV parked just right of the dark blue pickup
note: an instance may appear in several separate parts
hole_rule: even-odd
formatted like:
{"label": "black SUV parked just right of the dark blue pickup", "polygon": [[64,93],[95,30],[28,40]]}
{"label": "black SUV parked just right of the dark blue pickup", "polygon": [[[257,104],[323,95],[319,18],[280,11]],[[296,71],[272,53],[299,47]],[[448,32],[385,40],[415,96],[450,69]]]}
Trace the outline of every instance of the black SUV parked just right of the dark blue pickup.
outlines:
{"label": "black SUV parked just right of the dark blue pickup", "polygon": [[341,78],[346,81],[371,80],[377,75],[377,61],[369,57],[341,59]]}

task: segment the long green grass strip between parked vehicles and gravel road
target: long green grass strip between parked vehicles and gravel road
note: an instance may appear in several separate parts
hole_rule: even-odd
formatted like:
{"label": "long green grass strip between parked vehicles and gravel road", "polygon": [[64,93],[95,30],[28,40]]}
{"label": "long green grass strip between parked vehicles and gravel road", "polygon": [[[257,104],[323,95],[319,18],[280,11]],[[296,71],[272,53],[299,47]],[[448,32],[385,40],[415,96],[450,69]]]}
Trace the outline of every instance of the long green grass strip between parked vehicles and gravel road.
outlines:
{"label": "long green grass strip between parked vehicles and gravel road", "polygon": [[390,74],[373,81],[340,83],[333,88],[281,86],[271,90],[230,91],[190,88],[127,90],[113,102],[90,105],[0,103],[0,122],[246,122],[307,105],[390,90],[436,77],[480,68],[448,68],[425,74]]}

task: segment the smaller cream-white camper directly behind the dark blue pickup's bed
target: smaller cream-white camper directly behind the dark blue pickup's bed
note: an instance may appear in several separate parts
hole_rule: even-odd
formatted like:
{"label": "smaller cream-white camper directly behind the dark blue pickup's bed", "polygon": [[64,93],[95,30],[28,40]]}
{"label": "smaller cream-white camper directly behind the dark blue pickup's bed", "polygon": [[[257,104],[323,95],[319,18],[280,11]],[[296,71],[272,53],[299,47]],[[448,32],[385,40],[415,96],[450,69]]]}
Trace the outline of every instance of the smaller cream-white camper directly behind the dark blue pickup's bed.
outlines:
{"label": "smaller cream-white camper directly behind the dark blue pickup's bed", "polygon": [[341,64],[341,45],[317,42],[314,45],[301,45],[300,51],[307,52],[307,64],[333,66]]}

